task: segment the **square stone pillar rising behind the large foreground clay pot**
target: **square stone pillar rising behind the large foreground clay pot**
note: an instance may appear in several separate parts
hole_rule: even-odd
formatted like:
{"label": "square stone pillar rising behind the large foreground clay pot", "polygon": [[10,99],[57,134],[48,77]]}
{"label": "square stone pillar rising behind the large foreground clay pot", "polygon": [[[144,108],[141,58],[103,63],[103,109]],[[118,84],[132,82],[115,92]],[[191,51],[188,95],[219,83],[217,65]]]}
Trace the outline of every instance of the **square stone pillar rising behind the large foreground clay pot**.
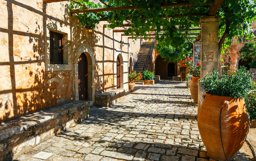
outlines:
{"label": "square stone pillar rising behind the large foreground clay pot", "polygon": [[[200,18],[201,26],[201,78],[213,69],[218,70],[218,36],[221,16],[206,16]],[[198,111],[203,103],[205,92],[198,82]]]}

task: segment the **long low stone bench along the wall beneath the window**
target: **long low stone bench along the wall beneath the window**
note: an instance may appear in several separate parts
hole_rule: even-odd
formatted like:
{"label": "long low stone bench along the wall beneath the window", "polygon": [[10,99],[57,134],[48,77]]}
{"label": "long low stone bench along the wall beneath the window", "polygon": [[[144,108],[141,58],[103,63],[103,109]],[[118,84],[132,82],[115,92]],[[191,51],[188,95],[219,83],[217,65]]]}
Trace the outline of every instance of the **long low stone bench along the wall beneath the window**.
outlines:
{"label": "long low stone bench along the wall beneath the window", "polygon": [[9,160],[89,117],[92,101],[73,101],[0,124],[0,161]]}

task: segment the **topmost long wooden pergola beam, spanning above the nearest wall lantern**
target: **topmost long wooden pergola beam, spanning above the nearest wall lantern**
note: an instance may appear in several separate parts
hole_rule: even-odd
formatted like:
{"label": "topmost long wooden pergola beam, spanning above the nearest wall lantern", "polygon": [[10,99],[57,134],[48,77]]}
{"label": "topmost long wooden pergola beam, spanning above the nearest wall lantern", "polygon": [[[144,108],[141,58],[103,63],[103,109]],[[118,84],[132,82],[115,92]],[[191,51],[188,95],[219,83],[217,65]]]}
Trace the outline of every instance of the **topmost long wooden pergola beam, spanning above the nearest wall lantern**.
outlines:
{"label": "topmost long wooden pergola beam, spanning above the nearest wall lantern", "polygon": [[[167,3],[167,4],[161,5],[161,7],[182,7],[182,6],[195,6],[195,5],[190,4],[189,2]],[[136,8],[134,6],[119,6],[119,7],[103,7],[103,8],[88,8],[88,9],[71,9],[70,13],[104,12],[104,11],[128,10],[128,9],[141,9],[141,8],[138,8],[138,7]]]}

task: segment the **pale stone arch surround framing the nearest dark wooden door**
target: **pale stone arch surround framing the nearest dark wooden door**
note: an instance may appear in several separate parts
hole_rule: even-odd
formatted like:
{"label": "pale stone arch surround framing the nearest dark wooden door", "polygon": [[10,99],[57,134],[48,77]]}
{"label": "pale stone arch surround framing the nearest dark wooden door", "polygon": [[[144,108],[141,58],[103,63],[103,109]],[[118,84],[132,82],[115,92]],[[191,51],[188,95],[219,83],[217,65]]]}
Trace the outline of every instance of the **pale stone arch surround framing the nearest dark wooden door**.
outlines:
{"label": "pale stone arch surround framing the nearest dark wooden door", "polygon": [[95,101],[95,58],[92,49],[87,45],[81,45],[75,54],[74,64],[75,64],[75,100],[79,100],[79,90],[78,90],[78,60],[80,55],[84,53],[88,60],[88,99]]}

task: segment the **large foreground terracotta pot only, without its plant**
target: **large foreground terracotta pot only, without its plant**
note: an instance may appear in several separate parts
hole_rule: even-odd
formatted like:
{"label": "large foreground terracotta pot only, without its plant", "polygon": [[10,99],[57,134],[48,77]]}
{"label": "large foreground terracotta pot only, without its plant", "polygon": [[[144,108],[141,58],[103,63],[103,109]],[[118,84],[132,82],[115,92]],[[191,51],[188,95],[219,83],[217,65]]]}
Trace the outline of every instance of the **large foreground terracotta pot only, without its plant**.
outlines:
{"label": "large foreground terracotta pot only, without its plant", "polygon": [[[215,160],[231,161],[242,147],[249,132],[250,120],[244,99],[235,98],[233,102],[232,100],[231,97],[206,93],[198,112],[198,129],[202,141],[206,146],[208,156]],[[223,108],[222,111],[221,108]],[[227,159],[223,152],[221,137]]]}

